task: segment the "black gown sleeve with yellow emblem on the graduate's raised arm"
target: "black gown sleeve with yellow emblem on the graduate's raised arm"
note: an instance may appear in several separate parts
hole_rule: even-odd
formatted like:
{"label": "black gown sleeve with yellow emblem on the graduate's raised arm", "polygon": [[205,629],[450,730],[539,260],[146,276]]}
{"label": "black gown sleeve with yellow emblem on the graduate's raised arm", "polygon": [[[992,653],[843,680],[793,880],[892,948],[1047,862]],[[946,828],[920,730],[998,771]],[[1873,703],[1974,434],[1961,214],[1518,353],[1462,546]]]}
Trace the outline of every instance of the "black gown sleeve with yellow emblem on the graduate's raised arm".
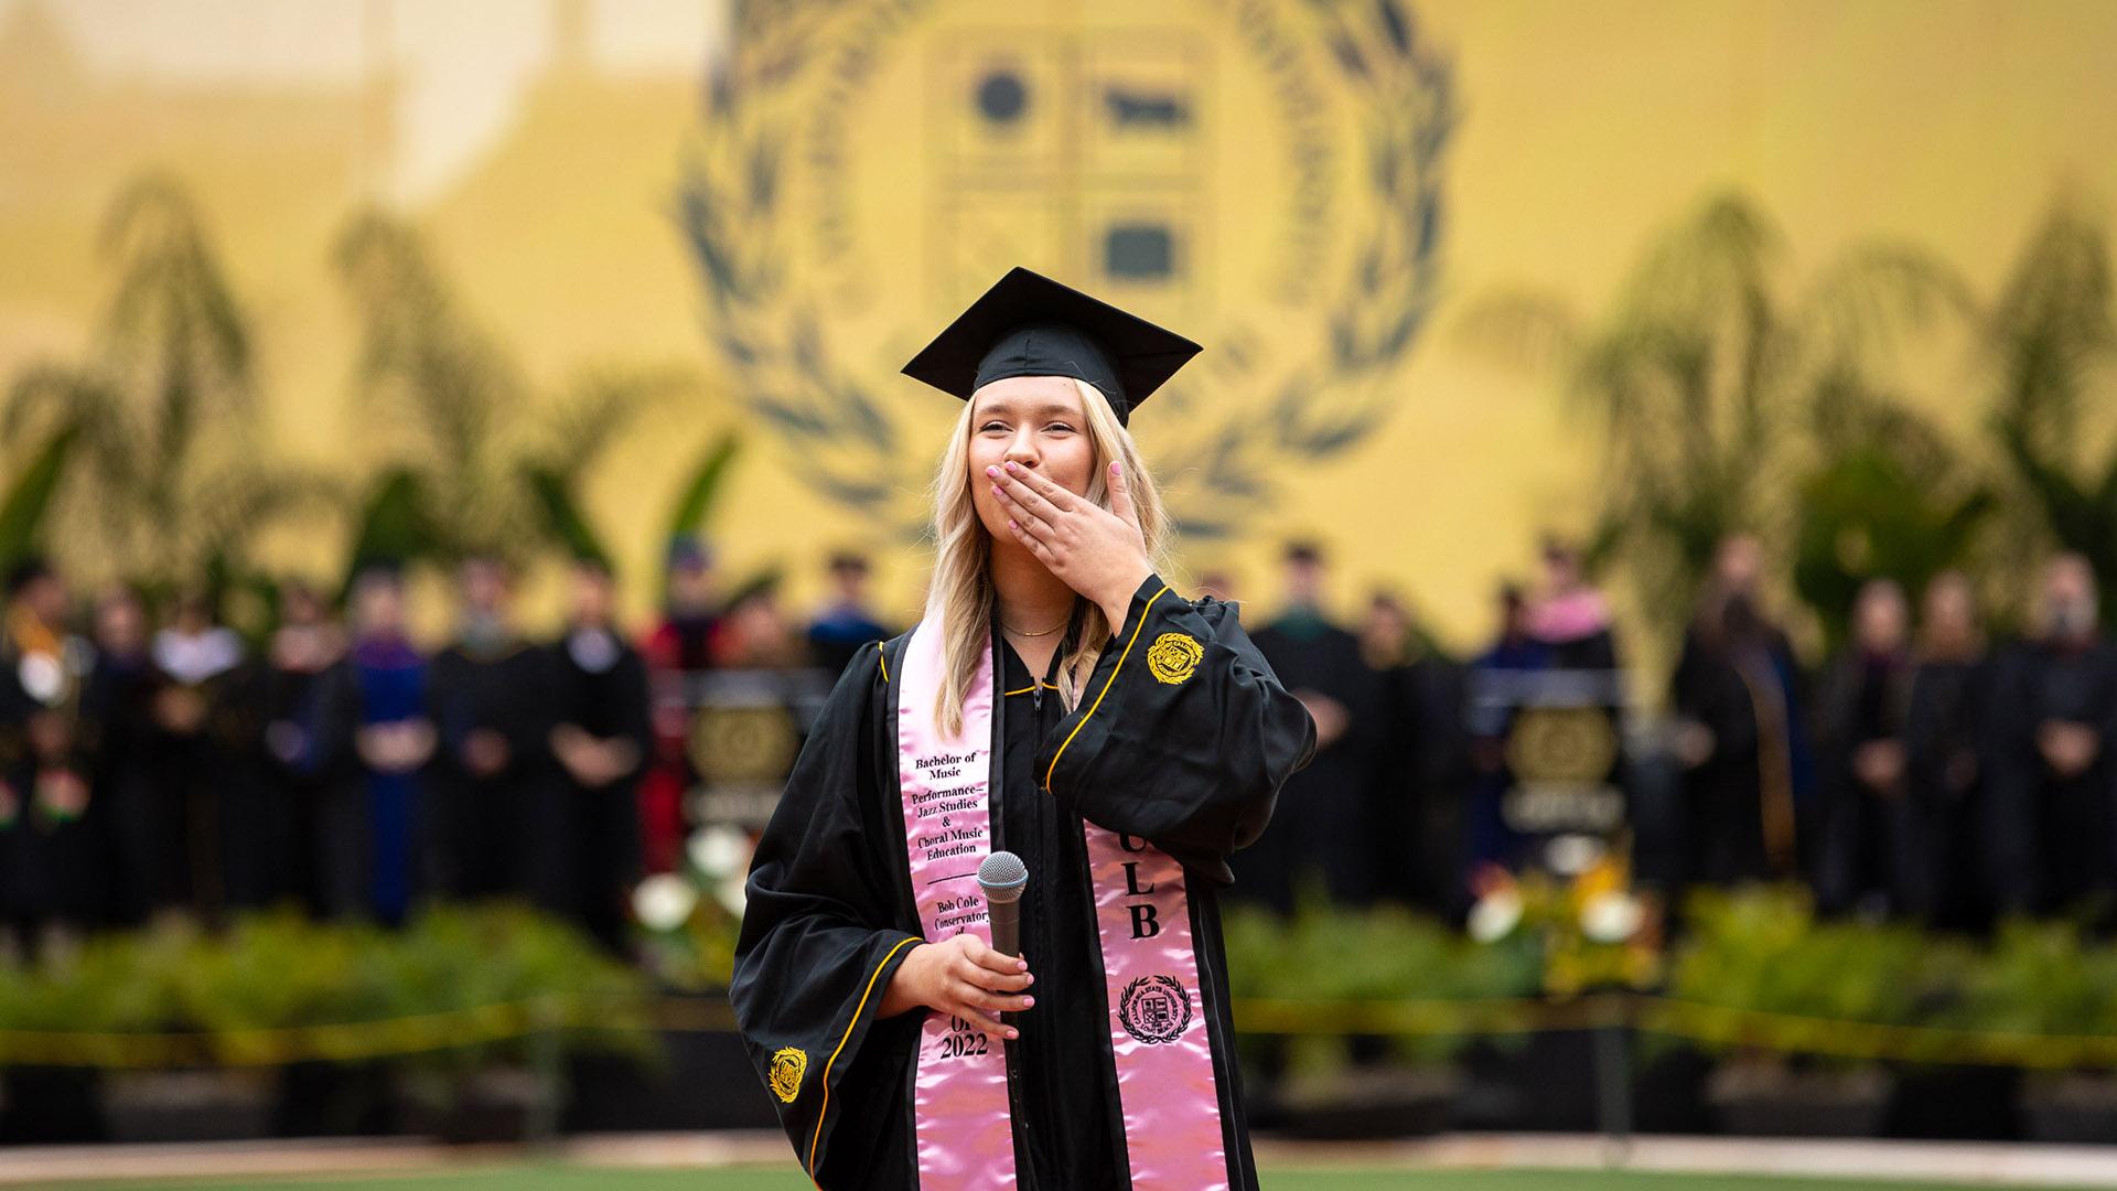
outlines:
{"label": "black gown sleeve with yellow emblem on the graduate's raised arm", "polygon": [[1228,856],[1264,833],[1279,786],[1315,744],[1308,708],[1234,604],[1183,600],[1147,576],[1035,771],[1088,822],[1228,884]]}

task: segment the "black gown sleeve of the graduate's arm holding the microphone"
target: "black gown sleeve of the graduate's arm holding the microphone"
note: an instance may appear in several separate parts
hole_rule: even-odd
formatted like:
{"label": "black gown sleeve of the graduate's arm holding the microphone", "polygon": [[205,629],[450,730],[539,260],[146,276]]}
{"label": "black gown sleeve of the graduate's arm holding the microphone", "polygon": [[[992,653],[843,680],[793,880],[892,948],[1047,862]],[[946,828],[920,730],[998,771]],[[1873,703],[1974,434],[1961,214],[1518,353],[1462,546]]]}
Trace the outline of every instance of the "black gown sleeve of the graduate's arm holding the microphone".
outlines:
{"label": "black gown sleeve of the graduate's arm holding the microphone", "polygon": [[[876,754],[889,695],[881,648],[838,678],[749,867],[728,998],[749,1062],[802,1170],[857,1185],[900,1125],[919,1015],[876,1021],[919,943],[902,890],[902,829],[883,822]],[[832,1178],[836,1174],[836,1178]]]}

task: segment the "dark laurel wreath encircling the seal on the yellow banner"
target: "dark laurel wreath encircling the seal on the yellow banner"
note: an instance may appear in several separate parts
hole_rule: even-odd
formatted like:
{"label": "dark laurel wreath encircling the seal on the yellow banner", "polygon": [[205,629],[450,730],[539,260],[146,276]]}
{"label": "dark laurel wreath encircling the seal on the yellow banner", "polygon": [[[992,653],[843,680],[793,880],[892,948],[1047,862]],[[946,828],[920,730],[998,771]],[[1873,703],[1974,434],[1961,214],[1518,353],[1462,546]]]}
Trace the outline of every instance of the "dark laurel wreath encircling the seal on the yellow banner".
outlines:
{"label": "dark laurel wreath encircling the seal on the yellow banner", "polygon": [[[929,451],[900,449],[864,371],[830,352],[817,301],[788,275],[783,180],[798,114],[788,93],[826,57],[840,15],[874,0],[809,0],[737,8],[732,51],[716,72],[677,195],[696,259],[711,335],[741,375],[749,407],[802,458],[802,477],[828,498],[910,538]],[[912,8],[919,0],[887,0]],[[1156,473],[1190,536],[1226,536],[1274,494],[1274,477],[1332,460],[1389,417],[1391,384],[1437,299],[1442,153],[1454,129],[1454,81],[1421,40],[1404,0],[1289,0],[1313,17],[1344,85],[1359,100],[1365,176],[1374,186],[1361,248],[1317,303],[1323,348],[1266,362],[1245,331],[1219,335],[1228,367],[1211,379],[1213,411],[1156,426]]]}

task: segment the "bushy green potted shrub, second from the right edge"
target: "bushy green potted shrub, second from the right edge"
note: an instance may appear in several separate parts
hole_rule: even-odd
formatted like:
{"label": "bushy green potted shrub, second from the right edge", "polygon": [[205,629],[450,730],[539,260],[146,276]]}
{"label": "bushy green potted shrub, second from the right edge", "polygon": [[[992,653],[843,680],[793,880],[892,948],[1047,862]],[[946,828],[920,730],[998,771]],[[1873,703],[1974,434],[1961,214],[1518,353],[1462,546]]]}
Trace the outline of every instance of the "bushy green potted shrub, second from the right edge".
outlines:
{"label": "bushy green potted shrub, second from the right edge", "polygon": [[1962,954],[1912,926],[1816,922],[1804,890],[1702,892],[1668,996],[1711,1041],[1706,1102],[1749,1136],[1874,1136],[1895,1077],[1861,1024],[1929,1019]]}

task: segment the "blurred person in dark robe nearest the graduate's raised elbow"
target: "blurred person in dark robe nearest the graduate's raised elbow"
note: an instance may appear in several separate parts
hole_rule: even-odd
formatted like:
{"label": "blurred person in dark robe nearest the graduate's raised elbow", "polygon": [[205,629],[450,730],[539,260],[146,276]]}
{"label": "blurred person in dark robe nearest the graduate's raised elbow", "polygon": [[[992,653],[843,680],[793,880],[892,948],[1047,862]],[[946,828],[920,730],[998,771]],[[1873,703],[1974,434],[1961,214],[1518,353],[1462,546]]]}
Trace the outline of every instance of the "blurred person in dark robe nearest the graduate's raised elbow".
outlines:
{"label": "blurred person in dark robe nearest the graduate's raised elbow", "polygon": [[1238,865],[1234,896],[1289,913],[1310,892],[1336,905],[1368,905],[1376,892],[1374,731],[1380,682],[1359,638],[1323,612],[1323,553],[1293,543],[1285,553],[1287,600],[1257,629],[1257,651],[1317,725],[1315,761],[1287,782],[1279,831]]}

